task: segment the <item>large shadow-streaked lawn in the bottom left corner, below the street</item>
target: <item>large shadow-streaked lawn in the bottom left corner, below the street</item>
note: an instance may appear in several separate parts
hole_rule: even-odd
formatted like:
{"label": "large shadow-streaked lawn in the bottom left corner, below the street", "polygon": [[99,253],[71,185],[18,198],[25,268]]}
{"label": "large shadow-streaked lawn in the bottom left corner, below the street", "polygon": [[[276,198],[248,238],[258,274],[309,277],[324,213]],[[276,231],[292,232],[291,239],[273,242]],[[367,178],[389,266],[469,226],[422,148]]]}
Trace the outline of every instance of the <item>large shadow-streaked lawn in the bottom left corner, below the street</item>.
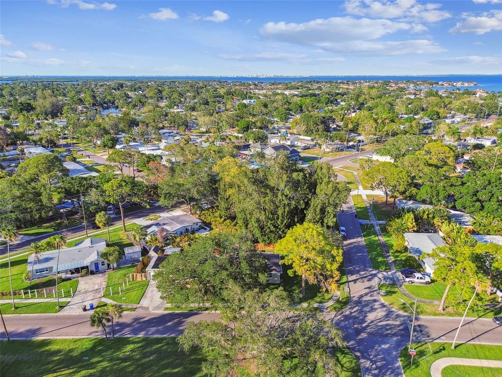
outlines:
{"label": "large shadow-streaked lawn in the bottom left corner, below the street", "polygon": [[[88,359],[87,359],[88,358]],[[174,337],[15,340],[2,344],[2,375],[198,376],[201,351],[179,351]]]}

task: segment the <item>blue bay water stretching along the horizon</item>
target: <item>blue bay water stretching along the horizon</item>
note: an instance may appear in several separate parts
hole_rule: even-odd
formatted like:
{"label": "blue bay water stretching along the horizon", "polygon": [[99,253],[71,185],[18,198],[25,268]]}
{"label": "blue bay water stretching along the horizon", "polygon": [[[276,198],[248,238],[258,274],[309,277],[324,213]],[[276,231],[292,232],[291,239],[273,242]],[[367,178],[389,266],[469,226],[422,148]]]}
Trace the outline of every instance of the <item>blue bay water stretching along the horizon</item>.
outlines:
{"label": "blue bay water stretching along the horizon", "polygon": [[[295,82],[295,81],[474,81],[477,86],[459,86],[459,89],[484,89],[486,91],[502,91],[502,74],[451,74],[451,75],[426,75],[426,76],[4,76],[0,83],[15,81],[59,81],[78,83],[82,80],[219,80],[241,82]],[[455,86],[434,87],[435,89],[455,89]]]}

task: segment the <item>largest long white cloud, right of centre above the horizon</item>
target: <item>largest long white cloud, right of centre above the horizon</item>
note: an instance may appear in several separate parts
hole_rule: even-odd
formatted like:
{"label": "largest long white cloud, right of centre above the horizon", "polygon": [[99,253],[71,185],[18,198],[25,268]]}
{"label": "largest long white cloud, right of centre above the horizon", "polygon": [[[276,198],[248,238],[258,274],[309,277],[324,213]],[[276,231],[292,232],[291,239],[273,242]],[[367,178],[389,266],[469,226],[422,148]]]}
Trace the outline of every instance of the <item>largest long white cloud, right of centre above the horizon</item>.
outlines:
{"label": "largest long white cloud, right of centre above the horizon", "polygon": [[267,39],[314,46],[335,53],[402,55],[443,51],[429,40],[374,41],[396,32],[414,32],[416,28],[416,25],[390,20],[332,17],[302,24],[269,22],[260,29],[260,34]]}

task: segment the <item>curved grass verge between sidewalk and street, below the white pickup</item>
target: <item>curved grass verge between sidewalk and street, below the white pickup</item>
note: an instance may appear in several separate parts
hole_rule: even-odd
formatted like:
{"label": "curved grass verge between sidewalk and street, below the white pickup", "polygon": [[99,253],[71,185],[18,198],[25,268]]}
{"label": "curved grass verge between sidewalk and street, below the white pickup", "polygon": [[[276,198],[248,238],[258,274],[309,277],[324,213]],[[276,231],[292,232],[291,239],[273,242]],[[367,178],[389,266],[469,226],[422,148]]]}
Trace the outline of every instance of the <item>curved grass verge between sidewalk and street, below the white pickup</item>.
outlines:
{"label": "curved grass verge between sidewalk and street, below the white pickup", "polygon": [[[379,290],[385,291],[386,294],[381,296],[387,304],[393,308],[399,309],[404,313],[409,313],[408,307],[400,301],[404,300],[408,305],[414,305],[414,300],[409,299],[401,292],[394,284],[381,284]],[[494,295],[496,297],[496,295]],[[493,298],[492,300],[495,300]],[[417,303],[417,314],[421,316],[445,316],[445,317],[461,317],[464,314],[464,309],[455,309],[446,307],[444,313],[439,312],[439,305]],[[471,308],[467,312],[467,317],[471,318],[491,318],[502,314],[502,308]]]}

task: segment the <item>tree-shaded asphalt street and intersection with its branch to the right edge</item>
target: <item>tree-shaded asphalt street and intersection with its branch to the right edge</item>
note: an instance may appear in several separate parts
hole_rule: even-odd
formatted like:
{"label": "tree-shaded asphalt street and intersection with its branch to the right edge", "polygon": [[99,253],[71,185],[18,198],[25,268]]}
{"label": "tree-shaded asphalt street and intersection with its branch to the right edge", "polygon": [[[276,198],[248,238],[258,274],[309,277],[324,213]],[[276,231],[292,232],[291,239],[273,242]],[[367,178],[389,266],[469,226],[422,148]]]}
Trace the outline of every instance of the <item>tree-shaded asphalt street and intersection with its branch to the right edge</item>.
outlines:
{"label": "tree-shaded asphalt street and intersection with its branch to the right edge", "polygon": [[[348,347],[357,357],[364,376],[394,377],[402,375],[399,353],[408,344],[412,316],[384,304],[376,287],[378,270],[371,268],[364,239],[349,197],[344,211],[338,214],[347,230],[344,260],[350,288],[350,304],[332,318],[342,329]],[[418,317],[413,339],[453,341],[460,318]],[[467,319],[458,342],[502,344],[502,326],[490,319]]]}

